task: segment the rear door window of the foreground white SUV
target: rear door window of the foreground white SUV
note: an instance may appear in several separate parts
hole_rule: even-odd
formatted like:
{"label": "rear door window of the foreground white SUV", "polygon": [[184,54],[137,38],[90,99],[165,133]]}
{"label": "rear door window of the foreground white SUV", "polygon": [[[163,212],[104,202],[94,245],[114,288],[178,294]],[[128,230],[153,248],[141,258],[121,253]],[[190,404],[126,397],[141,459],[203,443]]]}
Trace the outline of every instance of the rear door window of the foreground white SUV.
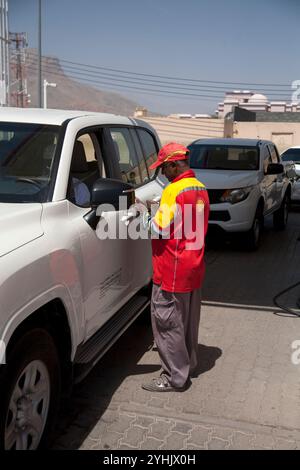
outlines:
{"label": "rear door window of the foreground white SUV", "polygon": [[137,160],[137,155],[129,129],[126,127],[109,129],[114,142],[122,180],[133,186],[142,183],[142,176]]}

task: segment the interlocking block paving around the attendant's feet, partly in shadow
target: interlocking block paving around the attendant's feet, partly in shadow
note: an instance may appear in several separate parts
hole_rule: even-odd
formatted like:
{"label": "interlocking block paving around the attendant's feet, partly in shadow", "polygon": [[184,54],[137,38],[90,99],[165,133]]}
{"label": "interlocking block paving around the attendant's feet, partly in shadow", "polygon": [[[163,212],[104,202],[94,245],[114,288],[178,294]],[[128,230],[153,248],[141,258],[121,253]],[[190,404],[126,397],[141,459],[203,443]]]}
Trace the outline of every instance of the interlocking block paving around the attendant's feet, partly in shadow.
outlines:
{"label": "interlocking block paving around the attendant's feet, partly in shadow", "polygon": [[[86,380],[59,421],[55,449],[298,449],[300,319],[273,297],[300,281],[300,213],[267,224],[262,248],[207,253],[199,376],[184,393],[151,393],[159,373],[151,328],[136,322]],[[281,300],[296,307],[300,288]]]}

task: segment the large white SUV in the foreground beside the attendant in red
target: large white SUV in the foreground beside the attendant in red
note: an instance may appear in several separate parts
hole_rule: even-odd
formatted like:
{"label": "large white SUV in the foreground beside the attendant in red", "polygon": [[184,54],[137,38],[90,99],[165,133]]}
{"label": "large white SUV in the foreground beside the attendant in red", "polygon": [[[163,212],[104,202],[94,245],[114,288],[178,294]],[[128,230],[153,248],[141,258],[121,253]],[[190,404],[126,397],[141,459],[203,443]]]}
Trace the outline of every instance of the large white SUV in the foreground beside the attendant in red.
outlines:
{"label": "large white SUV in the foreground beside the attendant in red", "polygon": [[[120,195],[127,229],[134,190],[160,197],[165,182],[149,170],[159,146],[140,120],[1,109],[1,448],[45,445],[61,391],[148,306],[150,241],[100,240],[96,228],[120,215]],[[102,203],[116,212],[97,214]]]}

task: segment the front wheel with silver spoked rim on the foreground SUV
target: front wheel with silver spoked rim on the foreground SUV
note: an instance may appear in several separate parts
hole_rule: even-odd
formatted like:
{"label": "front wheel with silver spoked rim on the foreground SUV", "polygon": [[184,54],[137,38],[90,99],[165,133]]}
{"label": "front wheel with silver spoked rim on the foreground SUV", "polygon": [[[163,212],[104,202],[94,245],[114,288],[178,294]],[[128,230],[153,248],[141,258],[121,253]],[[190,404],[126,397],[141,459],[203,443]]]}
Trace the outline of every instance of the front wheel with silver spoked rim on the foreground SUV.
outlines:
{"label": "front wheel with silver spoked rim on the foreground SUV", "polygon": [[0,374],[0,449],[47,447],[60,401],[60,365],[49,333],[26,333]]}

